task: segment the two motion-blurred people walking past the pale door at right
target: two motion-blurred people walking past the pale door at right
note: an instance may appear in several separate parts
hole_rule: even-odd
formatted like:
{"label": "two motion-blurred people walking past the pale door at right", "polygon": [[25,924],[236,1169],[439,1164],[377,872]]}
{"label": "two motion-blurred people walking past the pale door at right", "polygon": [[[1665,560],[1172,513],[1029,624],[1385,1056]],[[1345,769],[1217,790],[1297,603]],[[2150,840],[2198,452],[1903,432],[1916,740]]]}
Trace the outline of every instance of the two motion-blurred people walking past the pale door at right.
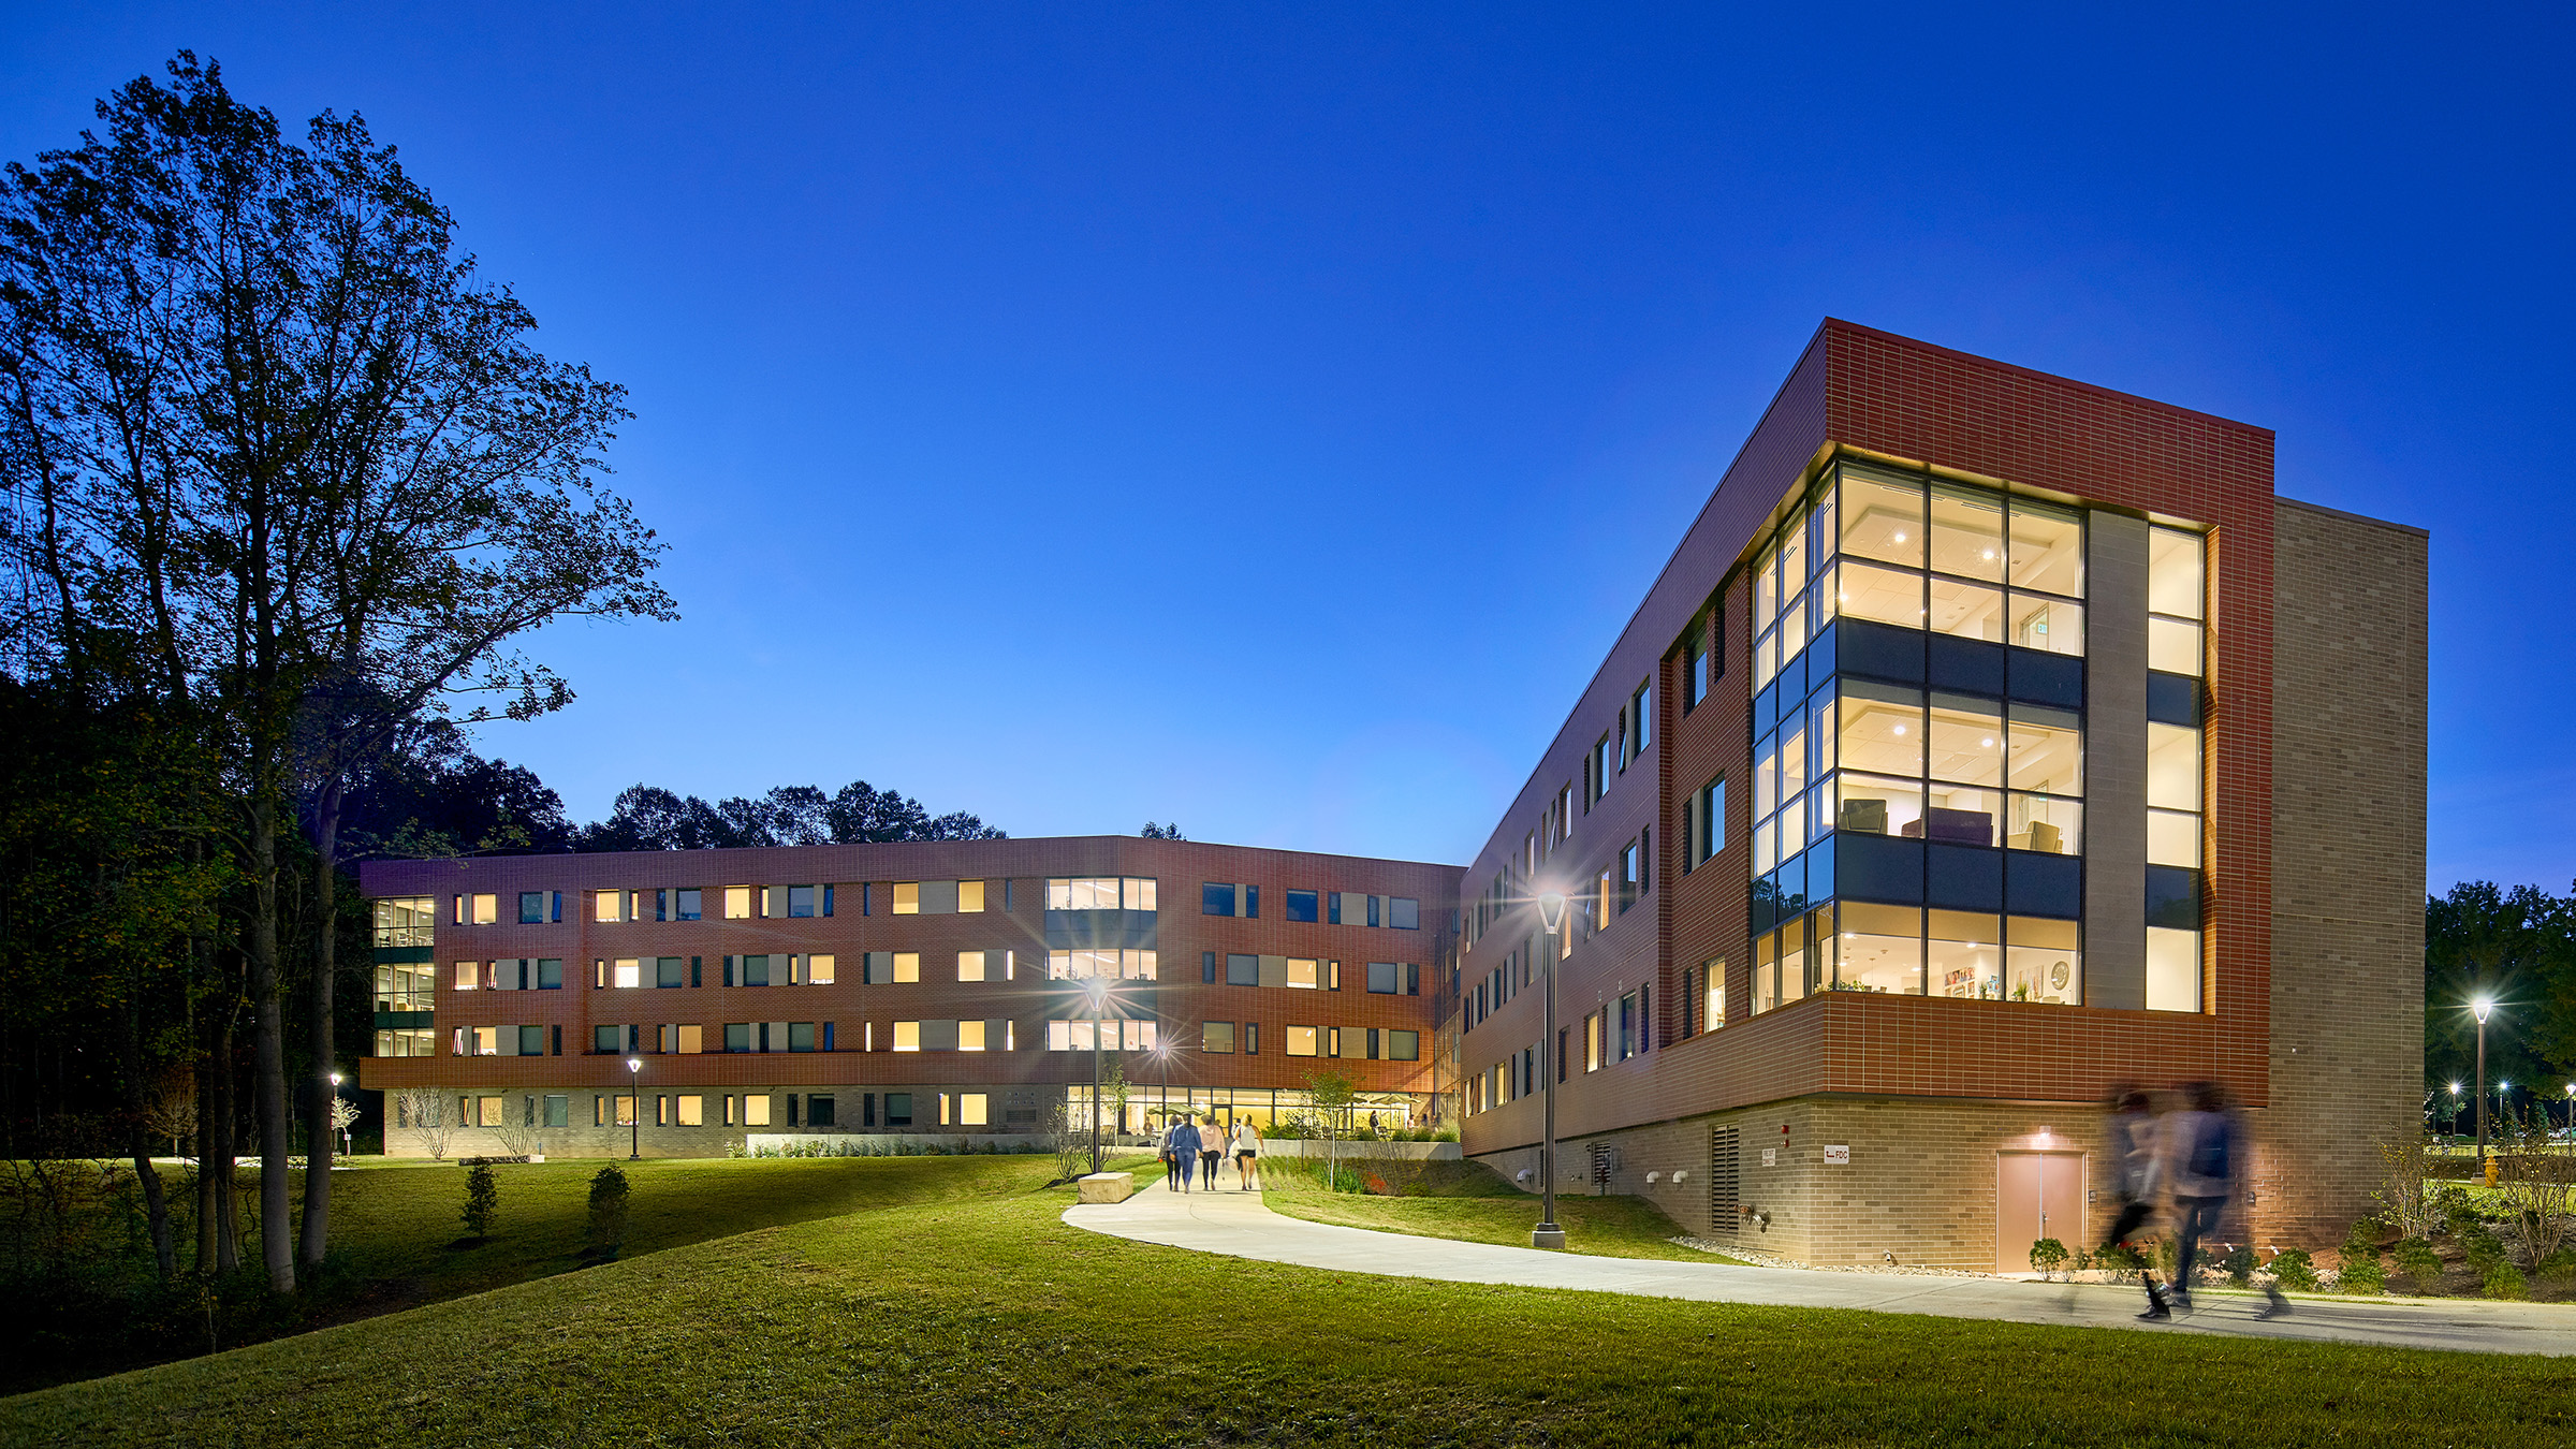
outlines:
{"label": "two motion-blurred people walking past the pale door at right", "polygon": [[[2174,1318],[2177,1307],[2190,1312],[2200,1240],[2215,1238],[2228,1201],[2251,1168],[2244,1122],[2218,1083],[2182,1088],[2182,1104],[2166,1111],[2159,1111],[2148,1093],[2120,1088],[2112,1093],[2110,1152],[2120,1168],[2120,1217],[2112,1220],[2102,1248],[2128,1243],[2164,1207],[2177,1238],[2174,1281],[2156,1281],[2154,1266],[2141,1271],[2146,1312],[2138,1318],[2161,1323]],[[2264,1284],[2264,1294],[2257,1318],[2290,1312],[2290,1299],[2277,1284]]]}

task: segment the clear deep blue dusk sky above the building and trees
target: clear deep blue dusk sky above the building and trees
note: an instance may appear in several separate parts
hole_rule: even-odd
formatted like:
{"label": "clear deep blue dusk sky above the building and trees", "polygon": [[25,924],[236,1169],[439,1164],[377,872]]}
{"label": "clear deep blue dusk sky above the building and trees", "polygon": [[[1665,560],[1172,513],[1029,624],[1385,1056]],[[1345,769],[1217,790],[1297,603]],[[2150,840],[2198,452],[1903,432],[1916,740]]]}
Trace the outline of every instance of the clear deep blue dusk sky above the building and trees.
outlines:
{"label": "clear deep blue dusk sky above the building and trees", "polygon": [[2563,890],[2568,10],[1816,15],[15,5],[0,155],[193,46],[634,389],[685,619],[549,634],[580,701],[484,740],[574,817],[1461,861],[1842,315],[2429,526],[2432,884]]}

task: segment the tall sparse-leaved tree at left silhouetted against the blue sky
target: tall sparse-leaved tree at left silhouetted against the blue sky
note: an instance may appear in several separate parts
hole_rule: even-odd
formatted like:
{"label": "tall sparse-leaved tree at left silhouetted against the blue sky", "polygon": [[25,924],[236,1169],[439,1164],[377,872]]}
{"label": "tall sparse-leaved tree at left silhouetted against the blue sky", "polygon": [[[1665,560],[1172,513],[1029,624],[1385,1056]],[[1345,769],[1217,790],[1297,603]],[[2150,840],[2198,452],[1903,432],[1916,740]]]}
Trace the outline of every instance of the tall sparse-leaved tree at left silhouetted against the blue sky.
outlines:
{"label": "tall sparse-leaved tree at left silhouetted against the blue sky", "polygon": [[[103,137],[10,168],[10,464],[75,678],[100,632],[206,727],[237,810],[268,1276],[294,1287],[281,835],[304,825],[309,1049],[335,1060],[340,804],[422,714],[572,699],[510,639],[672,616],[659,544],[598,487],[623,394],[526,345],[505,289],[355,116],[301,144],[188,52],[98,106]],[[108,660],[116,663],[116,660]],[[131,670],[129,670],[131,673]],[[289,815],[294,812],[294,815]],[[325,1116],[322,1070],[309,1073]],[[301,1258],[330,1227],[330,1142]]]}

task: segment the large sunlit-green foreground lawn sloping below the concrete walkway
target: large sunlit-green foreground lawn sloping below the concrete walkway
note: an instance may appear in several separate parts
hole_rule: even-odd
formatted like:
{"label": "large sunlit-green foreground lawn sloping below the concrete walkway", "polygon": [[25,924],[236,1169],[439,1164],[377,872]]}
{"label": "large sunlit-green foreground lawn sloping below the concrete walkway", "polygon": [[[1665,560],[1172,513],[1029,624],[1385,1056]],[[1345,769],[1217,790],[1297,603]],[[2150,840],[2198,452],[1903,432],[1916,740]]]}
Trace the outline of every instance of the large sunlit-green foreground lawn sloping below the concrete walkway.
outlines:
{"label": "large sunlit-green foreground lawn sloping below the concrete walkway", "polygon": [[958,1191],[0,1400],[0,1441],[2576,1439],[2553,1359],[1327,1274],[1066,1227],[1041,1160],[922,1168]]}

